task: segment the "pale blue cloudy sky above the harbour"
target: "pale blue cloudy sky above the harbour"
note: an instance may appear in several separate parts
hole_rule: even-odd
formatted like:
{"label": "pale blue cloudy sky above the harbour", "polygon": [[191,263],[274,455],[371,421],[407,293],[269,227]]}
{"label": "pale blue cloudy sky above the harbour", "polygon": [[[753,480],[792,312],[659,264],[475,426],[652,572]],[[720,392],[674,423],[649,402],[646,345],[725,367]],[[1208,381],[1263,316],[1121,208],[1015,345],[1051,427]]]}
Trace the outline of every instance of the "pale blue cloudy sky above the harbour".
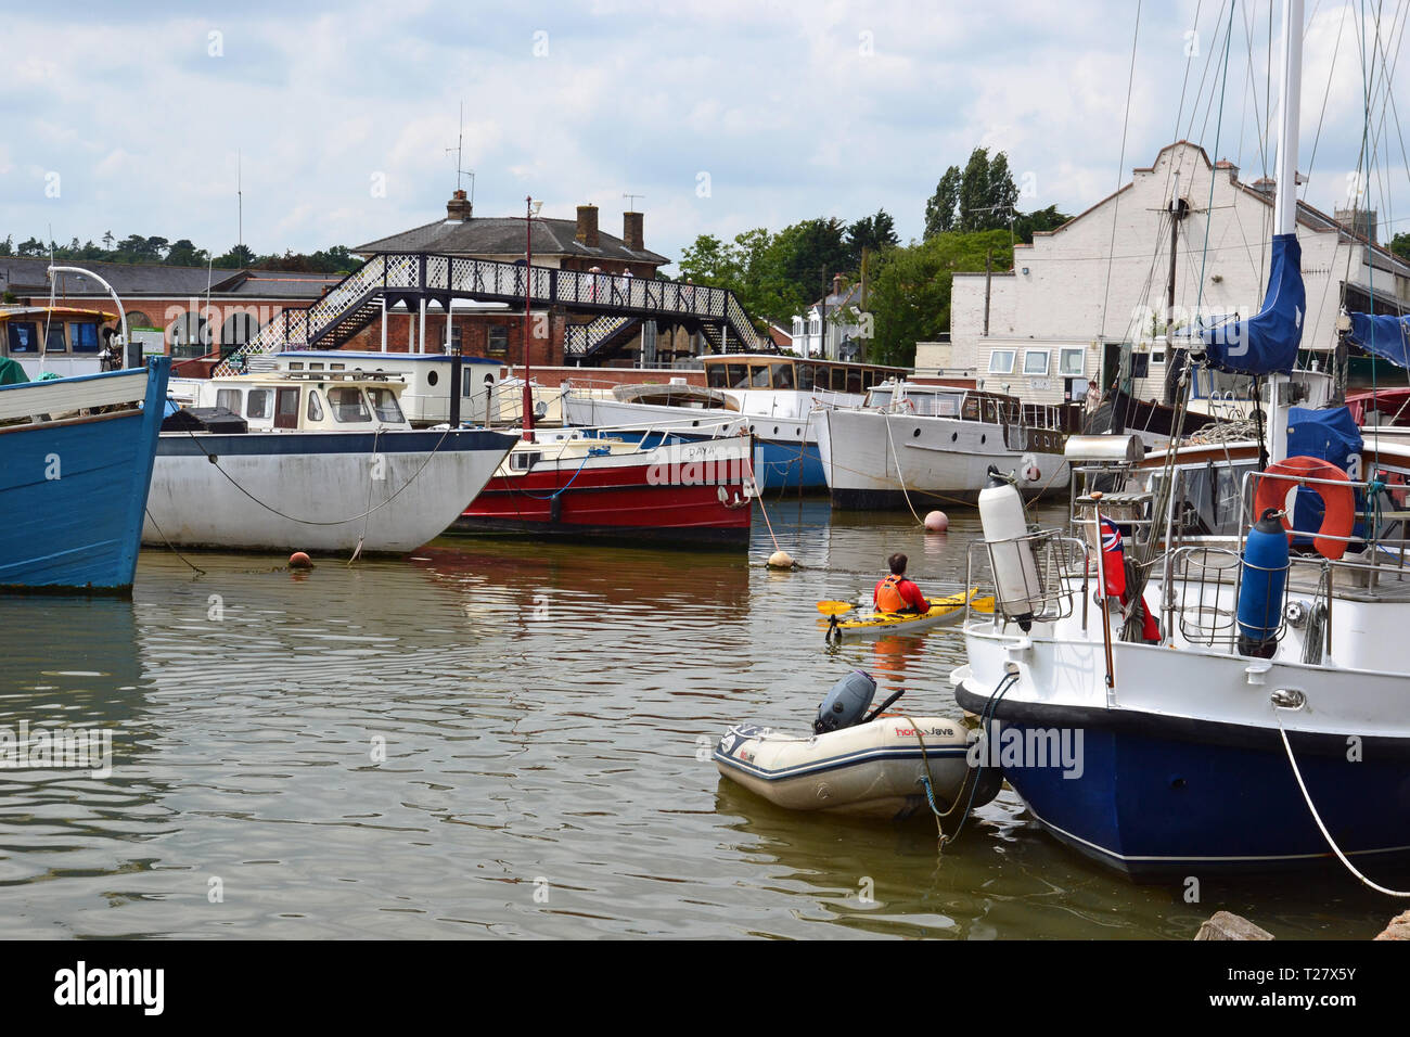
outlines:
{"label": "pale blue cloudy sky above the harbour", "polygon": [[[1387,238],[1410,230],[1410,96],[1392,73],[1386,104],[1378,66],[1380,172],[1359,181],[1362,34],[1378,49],[1361,7],[1307,0],[1299,168],[1325,210],[1365,186]],[[1382,8],[1393,68],[1410,0]],[[238,166],[257,253],[372,241],[444,216],[461,104],[477,216],[594,203],[620,236],[632,193],[673,260],[698,234],[877,209],[918,238],[974,147],[1008,154],[1021,209],[1072,214],[1182,137],[1244,179],[1270,168],[1269,17],[1244,0],[25,4],[0,37],[0,238],[221,253]]]}

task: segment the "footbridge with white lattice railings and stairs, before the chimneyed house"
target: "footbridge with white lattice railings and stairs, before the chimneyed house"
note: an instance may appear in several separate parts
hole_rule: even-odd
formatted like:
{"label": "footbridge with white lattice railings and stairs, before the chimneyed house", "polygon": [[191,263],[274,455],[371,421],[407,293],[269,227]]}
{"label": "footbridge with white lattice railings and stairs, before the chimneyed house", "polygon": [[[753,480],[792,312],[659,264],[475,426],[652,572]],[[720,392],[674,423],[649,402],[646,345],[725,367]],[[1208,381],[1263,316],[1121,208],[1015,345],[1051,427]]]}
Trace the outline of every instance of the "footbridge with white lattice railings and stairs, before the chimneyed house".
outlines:
{"label": "footbridge with white lattice railings and stairs, before the chimneyed house", "polygon": [[391,302],[392,296],[409,305],[417,299],[434,299],[443,306],[451,299],[522,305],[526,289],[532,305],[596,316],[585,326],[592,330],[574,333],[574,340],[564,344],[572,358],[605,356],[620,344],[619,336],[629,326],[647,317],[699,323],[712,344],[728,341],[732,353],[774,351],[725,288],[550,267],[529,269],[526,285],[526,268],[517,262],[431,253],[374,255],[307,309],[279,313],[226,357],[214,374],[238,374],[250,356],[343,346],[381,316],[384,299]]}

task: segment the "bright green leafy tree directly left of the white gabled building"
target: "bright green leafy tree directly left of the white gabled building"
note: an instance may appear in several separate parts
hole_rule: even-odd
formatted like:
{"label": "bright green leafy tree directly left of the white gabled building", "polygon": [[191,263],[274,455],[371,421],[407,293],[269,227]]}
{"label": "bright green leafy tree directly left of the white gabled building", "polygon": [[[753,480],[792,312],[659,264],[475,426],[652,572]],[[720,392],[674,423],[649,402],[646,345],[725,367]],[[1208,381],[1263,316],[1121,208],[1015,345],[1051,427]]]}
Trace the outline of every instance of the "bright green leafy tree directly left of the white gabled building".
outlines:
{"label": "bright green leafy tree directly left of the white gabled building", "polygon": [[929,241],[883,253],[867,298],[874,320],[867,360],[874,364],[915,363],[915,343],[933,340],[950,327],[955,272],[984,269],[990,253],[994,269],[1012,268],[1007,227],[936,234]]}

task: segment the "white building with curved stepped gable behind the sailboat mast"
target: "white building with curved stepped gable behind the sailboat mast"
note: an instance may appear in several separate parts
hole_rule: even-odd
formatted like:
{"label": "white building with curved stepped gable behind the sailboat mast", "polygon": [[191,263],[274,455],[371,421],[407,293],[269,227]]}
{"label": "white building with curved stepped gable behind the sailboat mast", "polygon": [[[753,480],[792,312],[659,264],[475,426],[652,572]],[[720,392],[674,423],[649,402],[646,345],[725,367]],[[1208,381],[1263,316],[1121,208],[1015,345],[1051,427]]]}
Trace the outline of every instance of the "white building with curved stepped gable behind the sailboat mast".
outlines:
{"label": "white building with curved stepped gable behind the sailboat mast", "polygon": [[[1231,162],[1211,164],[1198,145],[1170,144],[1114,195],[1019,244],[1012,271],[956,274],[950,365],[974,368],[981,388],[1035,404],[1081,399],[1089,378],[1107,388],[1128,374],[1135,395],[1160,399],[1172,226],[1176,329],[1262,306],[1275,185],[1244,183],[1238,172]],[[1306,203],[1297,223],[1304,348],[1335,346],[1344,284],[1348,309],[1368,306],[1372,257],[1378,310],[1410,308],[1410,264]],[[1197,387],[1197,395],[1207,389]]]}

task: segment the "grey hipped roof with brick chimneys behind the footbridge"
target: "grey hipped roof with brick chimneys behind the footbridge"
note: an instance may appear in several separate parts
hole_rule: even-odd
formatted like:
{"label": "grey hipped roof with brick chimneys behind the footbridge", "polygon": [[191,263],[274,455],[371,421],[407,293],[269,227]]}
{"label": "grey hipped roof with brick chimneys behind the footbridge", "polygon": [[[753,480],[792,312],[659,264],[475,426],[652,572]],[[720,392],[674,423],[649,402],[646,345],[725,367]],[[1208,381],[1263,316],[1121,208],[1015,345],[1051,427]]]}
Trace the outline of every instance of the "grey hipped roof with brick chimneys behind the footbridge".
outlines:
{"label": "grey hipped roof with brick chimneys behind the footbridge", "polygon": [[[578,241],[577,220],[534,219],[532,222],[534,255],[572,255],[592,260],[625,260],[664,265],[668,258],[643,248],[627,248],[626,241],[598,231],[598,247]],[[358,254],[439,253],[443,255],[523,255],[525,222],[522,217],[477,216],[468,220],[436,220],[400,234],[368,241],[352,248]]]}

